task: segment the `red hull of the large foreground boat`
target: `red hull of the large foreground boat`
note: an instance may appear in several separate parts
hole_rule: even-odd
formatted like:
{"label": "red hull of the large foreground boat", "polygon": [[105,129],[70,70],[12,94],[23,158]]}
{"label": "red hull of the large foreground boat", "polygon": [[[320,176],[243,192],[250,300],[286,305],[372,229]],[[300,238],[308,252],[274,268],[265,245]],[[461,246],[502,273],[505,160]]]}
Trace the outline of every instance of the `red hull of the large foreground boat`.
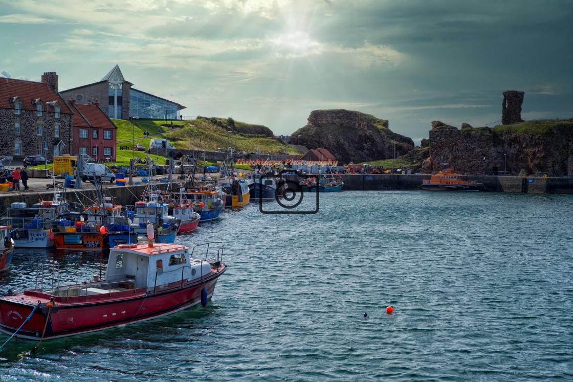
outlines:
{"label": "red hull of the large foreground boat", "polygon": [[225,266],[205,278],[205,282],[195,279],[183,286],[177,283],[177,286],[162,289],[160,293],[139,288],[113,292],[109,295],[105,293],[68,298],[56,297],[52,308],[46,306],[49,300],[45,297],[49,295],[44,293],[26,291],[23,297],[2,297],[0,332],[14,334],[32,312],[37,301],[42,305],[18,331],[17,337],[37,340],[44,332],[44,328],[46,328],[44,339],[66,337],[167,316],[201,304],[203,286],[207,290],[207,300],[210,300],[217,278],[224,271]]}

